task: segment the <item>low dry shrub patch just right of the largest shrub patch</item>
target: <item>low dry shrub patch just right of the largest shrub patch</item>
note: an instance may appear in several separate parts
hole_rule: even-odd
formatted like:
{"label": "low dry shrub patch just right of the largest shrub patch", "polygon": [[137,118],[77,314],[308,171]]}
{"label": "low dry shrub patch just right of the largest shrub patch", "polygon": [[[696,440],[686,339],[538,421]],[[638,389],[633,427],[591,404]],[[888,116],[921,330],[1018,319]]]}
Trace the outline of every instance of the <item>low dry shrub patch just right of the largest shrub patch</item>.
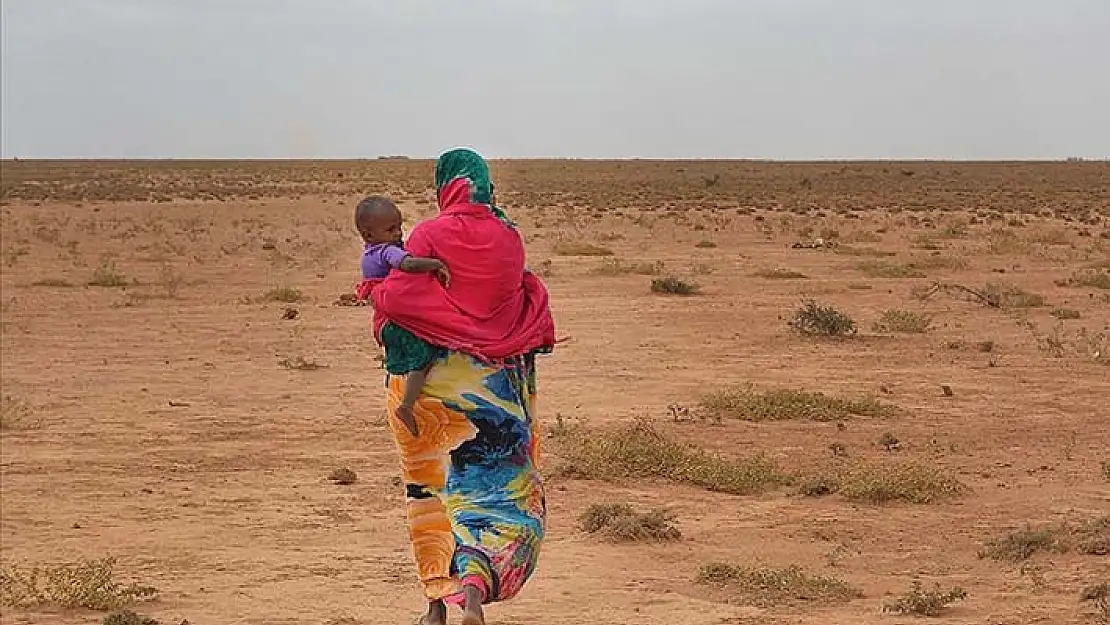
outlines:
{"label": "low dry shrub patch just right of the largest shrub patch", "polygon": [[855,466],[842,471],[834,480],[841,496],[870,504],[928,504],[966,491],[966,486],[951,473],[918,463]]}

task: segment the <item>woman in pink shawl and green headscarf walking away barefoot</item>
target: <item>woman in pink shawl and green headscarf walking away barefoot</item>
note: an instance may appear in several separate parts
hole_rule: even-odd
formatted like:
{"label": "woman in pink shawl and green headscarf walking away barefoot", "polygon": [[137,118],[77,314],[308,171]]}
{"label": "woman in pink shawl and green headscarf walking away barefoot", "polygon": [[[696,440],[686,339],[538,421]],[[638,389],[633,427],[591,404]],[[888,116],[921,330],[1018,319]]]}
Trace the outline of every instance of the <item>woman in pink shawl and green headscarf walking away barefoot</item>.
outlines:
{"label": "woman in pink shawl and green headscarf walking away barefoot", "polygon": [[[535,569],[546,504],[536,466],[535,355],[555,324],[524,243],[493,205],[485,161],[452,150],[436,162],[440,214],[406,243],[451,270],[450,286],[393,272],[372,293],[386,351],[387,407],[408,498],[408,530],[427,613],[484,625],[482,606],[515,596]],[[427,371],[406,413],[402,375]]]}

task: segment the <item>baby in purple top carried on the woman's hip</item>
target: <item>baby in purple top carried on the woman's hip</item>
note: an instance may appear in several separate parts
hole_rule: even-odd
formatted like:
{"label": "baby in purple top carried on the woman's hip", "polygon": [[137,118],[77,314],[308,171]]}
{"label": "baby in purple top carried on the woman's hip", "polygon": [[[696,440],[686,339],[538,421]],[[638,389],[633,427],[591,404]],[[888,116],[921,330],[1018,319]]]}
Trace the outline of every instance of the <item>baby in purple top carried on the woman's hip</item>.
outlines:
{"label": "baby in purple top carried on the woman's hip", "polygon": [[[359,299],[370,298],[373,290],[392,270],[405,273],[434,273],[447,286],[451,272],[447,265],[437,259],[421,259],[413,256],[402,246],[402,216],[397,206],[386,198],[371,195],[359,202],[354,212],[354,224],[365,242],[362,253],[362,284],[359,288]],[[389,350],[390,346],[385,345]],[[424,381],[431,365],[422,371],[413,371],[405,375],[405,393],[397,407],[397,417],[416,435],[416,421],[413,406],[424,389]]]}

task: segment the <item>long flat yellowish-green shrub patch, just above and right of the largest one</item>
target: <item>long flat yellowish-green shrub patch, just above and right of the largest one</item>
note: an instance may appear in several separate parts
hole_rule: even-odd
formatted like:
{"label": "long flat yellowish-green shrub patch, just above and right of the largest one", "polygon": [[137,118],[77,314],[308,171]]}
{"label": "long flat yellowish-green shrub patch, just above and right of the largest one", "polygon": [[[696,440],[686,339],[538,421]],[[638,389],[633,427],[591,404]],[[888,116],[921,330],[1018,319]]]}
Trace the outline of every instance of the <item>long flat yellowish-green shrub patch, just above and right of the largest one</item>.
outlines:
{"label": "long flat yellowish-green shrub patch, just above and right of the largest one", "polygon": [[874,397],[844,399],[824,393],[783,389],[758,392],[750,387],[717,391],[706,395],[702,413],[710,419],[741,421],[842,421],[851,416],[889,416],[891,406]]}

